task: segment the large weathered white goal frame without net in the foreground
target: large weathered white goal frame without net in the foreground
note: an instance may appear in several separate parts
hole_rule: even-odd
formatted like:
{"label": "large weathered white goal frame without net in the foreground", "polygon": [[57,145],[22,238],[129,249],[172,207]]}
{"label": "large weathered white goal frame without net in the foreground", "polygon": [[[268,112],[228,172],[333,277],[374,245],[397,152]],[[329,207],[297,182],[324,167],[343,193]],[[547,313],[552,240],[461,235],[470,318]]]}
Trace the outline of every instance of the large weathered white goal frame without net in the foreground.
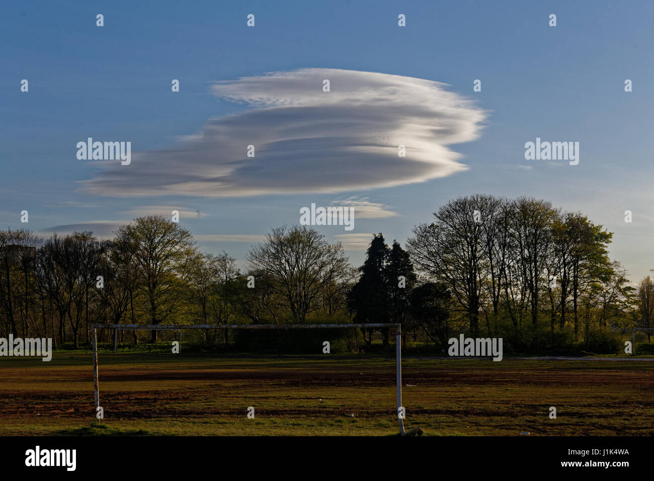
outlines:
{"label": "large weathered white goal frame without net in the foreground", "polygon": [[[218,324],[218,325],[138,325],[138,324],[94,324],[92,325],[91,339],[93,344],[93,383],[95,388],[95,410],[100,406],[100,394],[97,374],[97,329],[114,329],[114,350],[117,330],[179,330],[184,329],[392,329],[395,328],[396,349],[396,391],[397,391],[397,417],[400,435],[404,436],[404,406],[402,406],[402,329],[400,324]],[[410,433],[409,433],[410,434]]]}

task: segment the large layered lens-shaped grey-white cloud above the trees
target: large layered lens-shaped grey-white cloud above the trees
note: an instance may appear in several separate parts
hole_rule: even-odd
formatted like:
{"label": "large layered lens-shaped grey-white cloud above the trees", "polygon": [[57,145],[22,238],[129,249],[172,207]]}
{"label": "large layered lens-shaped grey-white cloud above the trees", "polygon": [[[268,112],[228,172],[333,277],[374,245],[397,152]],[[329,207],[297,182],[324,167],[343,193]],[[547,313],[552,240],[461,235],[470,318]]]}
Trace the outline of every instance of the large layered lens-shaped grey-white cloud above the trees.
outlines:
{"label": "large layered lens-shaped grey-white cloud above the trees", "polygon": [[[323,80],[330,92],[323,92]],[[449,145],[479,135],[485,112],[445,84],[384,73],[300,69],[216,82],[247,104],[129,166],[106,165],[84,190],[107,196],[254,196],[360,191],[466,169]],[[175,94],[177,95],[177,94]],[[254,145],[254,157],[248,146]],[[405,157],[398,146],[405,146]]]}

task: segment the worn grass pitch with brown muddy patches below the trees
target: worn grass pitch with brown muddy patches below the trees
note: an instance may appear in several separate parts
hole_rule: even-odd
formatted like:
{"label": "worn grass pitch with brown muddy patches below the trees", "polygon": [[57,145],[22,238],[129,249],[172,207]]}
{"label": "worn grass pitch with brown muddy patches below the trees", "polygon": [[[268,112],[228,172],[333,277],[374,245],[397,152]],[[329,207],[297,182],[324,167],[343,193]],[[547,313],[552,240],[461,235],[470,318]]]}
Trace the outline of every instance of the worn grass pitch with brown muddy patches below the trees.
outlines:
{"label": "worn grass pitch with brown muddy patches below the trees", "polygon": [[[1,359],[0,435],[398,431],[394,359],[103,352],[101,427],[91,366],[88,352]],[[652,361],[404,359],[402,371],[405,426],[426,435],[654,435]]]}

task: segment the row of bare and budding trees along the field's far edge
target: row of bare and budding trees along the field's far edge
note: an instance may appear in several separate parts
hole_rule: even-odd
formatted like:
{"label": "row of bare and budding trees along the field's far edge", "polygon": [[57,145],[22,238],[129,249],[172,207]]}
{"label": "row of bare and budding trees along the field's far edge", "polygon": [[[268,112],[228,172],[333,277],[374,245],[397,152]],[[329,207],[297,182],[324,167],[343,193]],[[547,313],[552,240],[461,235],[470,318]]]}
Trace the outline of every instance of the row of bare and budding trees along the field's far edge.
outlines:
{"label": "row of bare and budding trees along the field's far edge", "polygon": [[[606,344],[654,320],[654,283],[629,285],[608,255],[611,237],[545,200],[481,194],[442,205],[405,249],[374,235],[359,268],[309,226],[273,228],[245,272],[162,216],[134,219],[111,240],[9,229],[0,231],[0,336],[78,347],[93,323],[355,322],[401,323],[405,342],[439,348],[458,332],[525,352]],[[227,345],[230,334],[202,335]],[[375,336],[389,342],[386,329],[360,335],[367,347]]]}

